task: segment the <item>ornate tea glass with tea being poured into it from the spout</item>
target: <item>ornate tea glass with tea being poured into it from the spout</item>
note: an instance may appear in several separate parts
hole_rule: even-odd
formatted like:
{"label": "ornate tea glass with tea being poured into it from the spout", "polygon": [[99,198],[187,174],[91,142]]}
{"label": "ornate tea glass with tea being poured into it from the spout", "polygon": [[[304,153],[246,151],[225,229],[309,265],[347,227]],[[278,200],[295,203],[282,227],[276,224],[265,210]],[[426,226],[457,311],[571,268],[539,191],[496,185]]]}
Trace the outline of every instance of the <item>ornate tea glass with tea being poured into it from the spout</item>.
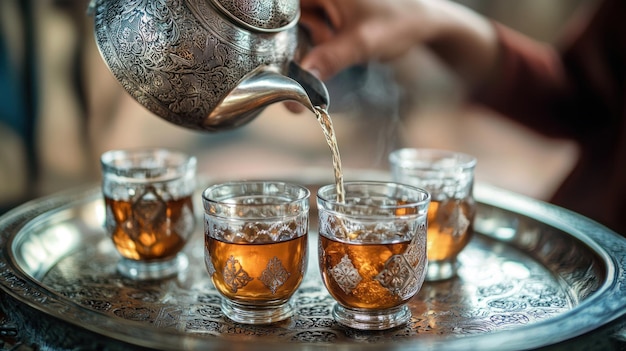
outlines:
{"label": "ornate tea glass with tea being poured into it from the spout", "polygon": [[407,323],[422,287],[430,195],[409,185],[346,182],[318,190],[319,267],[335,320],[362,330]]}

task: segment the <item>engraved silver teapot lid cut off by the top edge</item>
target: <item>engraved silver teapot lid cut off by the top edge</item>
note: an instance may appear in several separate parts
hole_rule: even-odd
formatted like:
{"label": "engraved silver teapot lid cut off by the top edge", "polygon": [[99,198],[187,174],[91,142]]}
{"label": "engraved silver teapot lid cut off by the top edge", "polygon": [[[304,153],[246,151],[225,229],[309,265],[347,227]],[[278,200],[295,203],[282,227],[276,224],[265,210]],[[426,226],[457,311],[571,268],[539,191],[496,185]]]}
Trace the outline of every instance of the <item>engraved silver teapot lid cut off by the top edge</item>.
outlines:
{"label": "engraved silver teapot lid cut off by the top edge", "polygon": [[247,29],[278,32],[300,17],[299,0],[211,0],[231,20]]}

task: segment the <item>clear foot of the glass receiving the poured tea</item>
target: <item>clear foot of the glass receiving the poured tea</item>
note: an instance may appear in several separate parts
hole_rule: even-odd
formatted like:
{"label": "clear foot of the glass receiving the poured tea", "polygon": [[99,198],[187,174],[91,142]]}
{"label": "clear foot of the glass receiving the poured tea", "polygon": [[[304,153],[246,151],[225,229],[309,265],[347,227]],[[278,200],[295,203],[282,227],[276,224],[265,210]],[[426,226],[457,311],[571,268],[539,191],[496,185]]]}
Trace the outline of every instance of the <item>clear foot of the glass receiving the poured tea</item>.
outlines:
{"label": "clear foot of the glass receiving the poured tea", "polygon": [[408,323],[411,310],[406,305],[386,310],[363,310],[335,304],[333,317],[337,323],[354,329],[386,330]]}

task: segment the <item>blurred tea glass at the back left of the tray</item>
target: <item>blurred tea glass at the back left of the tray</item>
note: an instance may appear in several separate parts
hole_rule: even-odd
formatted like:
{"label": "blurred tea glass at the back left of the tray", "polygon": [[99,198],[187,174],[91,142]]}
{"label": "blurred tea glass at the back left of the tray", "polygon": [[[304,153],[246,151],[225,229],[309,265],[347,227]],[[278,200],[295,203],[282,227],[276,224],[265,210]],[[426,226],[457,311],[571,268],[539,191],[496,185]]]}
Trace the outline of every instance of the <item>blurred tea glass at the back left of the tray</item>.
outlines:
{"label": "blurred tea glass at the back left of the tray", "polygon": [[117,270],[144,280],[188,266],[182,252],[195,228],[196,158],[167,149],[102,154],[105,227],[122,259]]}

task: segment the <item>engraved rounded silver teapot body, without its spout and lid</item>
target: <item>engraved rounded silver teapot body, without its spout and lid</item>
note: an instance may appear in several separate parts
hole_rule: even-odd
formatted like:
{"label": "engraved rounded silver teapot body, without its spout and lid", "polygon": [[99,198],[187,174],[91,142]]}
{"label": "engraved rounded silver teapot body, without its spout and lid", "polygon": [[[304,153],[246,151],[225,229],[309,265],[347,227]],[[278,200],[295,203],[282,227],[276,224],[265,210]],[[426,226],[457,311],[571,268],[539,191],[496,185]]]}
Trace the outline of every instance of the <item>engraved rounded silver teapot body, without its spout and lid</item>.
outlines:
{"label": "engraved rounded silver teapot body, without its spout and lid", "polygon": [[[185,128],[220,129],[206,119],[225,96],[258,67],[285,72],[298,46],[297,26],[244,29],[209,0],[100,0],[93,10],[96,43],[116,79],[148,110]],[[248,120],[261,109],[248,111]]]}

